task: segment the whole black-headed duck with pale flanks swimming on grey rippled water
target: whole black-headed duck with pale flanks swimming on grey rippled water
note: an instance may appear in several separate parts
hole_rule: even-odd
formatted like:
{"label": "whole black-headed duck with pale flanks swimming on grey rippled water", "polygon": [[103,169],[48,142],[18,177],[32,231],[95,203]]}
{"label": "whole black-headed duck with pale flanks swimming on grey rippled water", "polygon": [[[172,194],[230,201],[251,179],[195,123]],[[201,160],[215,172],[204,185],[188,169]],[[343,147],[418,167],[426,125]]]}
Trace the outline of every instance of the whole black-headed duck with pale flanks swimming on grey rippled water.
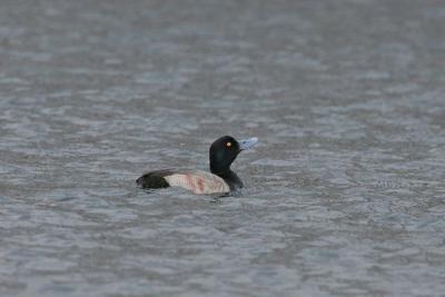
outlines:
{"label": "whole black-headed duck with pale flanks swimming on grey rippled water", "polygon": [[142,189],[180,187],[196,195],[228,194],[244,187],[230,166],[239,152],[258,142],[257,137],[236,140],[231,136],[216,139],[209,149],[210,172],[197,169],[159,169],[136,180]]}

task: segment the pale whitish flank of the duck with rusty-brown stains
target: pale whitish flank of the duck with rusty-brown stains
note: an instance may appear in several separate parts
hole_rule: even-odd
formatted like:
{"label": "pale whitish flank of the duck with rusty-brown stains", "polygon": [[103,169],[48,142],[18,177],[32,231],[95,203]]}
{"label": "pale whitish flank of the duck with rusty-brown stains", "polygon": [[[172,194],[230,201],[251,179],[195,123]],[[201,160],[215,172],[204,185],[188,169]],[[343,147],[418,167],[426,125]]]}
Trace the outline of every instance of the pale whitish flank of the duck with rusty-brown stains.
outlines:
{"label": "pale whitish flank of the duck with rusty-brown stains", "polygon": [[165,179],[171,187],[181,187],[198,195],[230,191],[222,178],[201,170],[187,170],[167,176]]}

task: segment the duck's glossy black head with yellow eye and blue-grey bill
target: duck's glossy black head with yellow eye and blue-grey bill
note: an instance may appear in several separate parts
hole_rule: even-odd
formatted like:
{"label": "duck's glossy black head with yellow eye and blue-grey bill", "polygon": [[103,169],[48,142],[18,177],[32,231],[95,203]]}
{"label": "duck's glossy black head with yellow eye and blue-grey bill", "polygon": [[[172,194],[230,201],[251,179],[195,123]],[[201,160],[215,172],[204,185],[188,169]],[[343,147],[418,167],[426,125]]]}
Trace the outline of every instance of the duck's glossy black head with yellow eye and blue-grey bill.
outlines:
{"label": "duck's glossy black head with yellow eye and blue-grey bill", "polygon": [[258,138],[253,137],[237,141],[231,136],[222,136],[214,141],[210,146],[210,171],[215,175],[225,175],[230,171],[230,165],[236,159],[239,152],[249,149],[258,141]]}

